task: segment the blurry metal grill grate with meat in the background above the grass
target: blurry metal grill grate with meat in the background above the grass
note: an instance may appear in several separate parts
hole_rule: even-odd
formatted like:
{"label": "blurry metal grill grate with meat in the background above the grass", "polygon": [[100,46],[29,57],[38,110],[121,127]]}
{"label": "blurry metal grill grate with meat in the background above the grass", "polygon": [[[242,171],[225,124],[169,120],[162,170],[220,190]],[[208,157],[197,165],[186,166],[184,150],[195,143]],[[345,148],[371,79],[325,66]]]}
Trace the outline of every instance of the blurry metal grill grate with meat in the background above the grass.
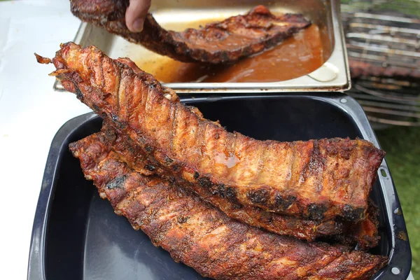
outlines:
{"label": "blurry metal grill grate with meat in the background above the grass", "polygon": [[[420,1],[414,2],[420,7]],[[420,126],[420,20],[397,12],[370,12],[374,3],[368,3],[352,3],[357,10],[343,6],[353,82],[348,93],[374,123]]]}

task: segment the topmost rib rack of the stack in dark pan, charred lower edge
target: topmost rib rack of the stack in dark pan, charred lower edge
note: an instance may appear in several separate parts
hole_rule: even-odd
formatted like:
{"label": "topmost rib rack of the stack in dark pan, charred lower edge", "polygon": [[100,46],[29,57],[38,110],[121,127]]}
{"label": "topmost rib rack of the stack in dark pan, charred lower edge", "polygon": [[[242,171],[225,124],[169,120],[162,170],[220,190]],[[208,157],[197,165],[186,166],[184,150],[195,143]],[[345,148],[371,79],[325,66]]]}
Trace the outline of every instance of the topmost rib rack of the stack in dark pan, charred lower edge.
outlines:
{"label": "topmost rib rack of the stack in dark pan, charred lower edge", "polygon": [[215,195],[280,214],[365,217],[384,152],[356,139],[258,141],[181,104],[130,59],[62,44],[52,75],[155,162]]}

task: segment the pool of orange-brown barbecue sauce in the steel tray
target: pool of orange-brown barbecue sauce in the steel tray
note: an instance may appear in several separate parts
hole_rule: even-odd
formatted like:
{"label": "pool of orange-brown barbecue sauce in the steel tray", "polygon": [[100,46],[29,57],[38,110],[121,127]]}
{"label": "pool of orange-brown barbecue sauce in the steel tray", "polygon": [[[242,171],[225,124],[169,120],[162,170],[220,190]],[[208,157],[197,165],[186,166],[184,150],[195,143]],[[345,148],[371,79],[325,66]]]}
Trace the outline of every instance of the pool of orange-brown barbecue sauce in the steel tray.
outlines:
{"label": "pool of orange-brown barbecue sauce in the steel tray", "polygon": [[306,75],[322,64],[320,32],[318,26],[311,25],[275,48],[241,59],[235,64],[185,63],[169,57],[158,57],[138,65],[163,83],[267,83]]}

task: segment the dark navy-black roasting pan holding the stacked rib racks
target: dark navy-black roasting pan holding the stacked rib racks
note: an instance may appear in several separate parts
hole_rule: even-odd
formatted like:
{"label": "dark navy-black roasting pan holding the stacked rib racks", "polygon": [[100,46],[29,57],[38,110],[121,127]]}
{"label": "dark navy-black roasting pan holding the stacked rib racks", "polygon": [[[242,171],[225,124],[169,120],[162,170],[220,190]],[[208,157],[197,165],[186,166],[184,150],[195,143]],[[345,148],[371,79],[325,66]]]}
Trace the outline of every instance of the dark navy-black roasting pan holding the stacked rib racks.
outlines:
{"label": "dark navy-black roasting pan holding the stacked rib racks", "polygon": [[[365,113],[340,92],[269,96],[184,98],[206,118],[255,139],[294,141],[360,137],[378,146]],[[94,113],[65,123],[52,140],[34,219],[29,280],[44,279],[203,279],[151,244],[143,232],[113,213],[86,181],[68,145],[98,132]],[[372,199],[380,208],[381,241],[372,253],[390,261],[373,279],[407,279],[411,251],[404,217],[386,161],[374,183]]]}

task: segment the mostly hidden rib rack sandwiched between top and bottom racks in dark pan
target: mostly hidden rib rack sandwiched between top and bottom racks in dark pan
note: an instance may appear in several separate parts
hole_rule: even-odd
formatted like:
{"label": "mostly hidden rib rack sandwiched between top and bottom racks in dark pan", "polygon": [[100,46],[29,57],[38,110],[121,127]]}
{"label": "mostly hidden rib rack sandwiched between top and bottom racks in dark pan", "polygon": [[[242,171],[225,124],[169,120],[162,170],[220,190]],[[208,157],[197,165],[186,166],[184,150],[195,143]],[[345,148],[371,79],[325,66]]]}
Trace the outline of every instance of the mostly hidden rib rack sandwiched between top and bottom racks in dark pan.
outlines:
{"label": "mostly hidden rib rack sandwiched between top and bottom racks in dark pan", "polygon": [[264,211],[258,207],[244,207],[212,194],[207,188],[200,188],[179,177],[167,174],[164,169],[156,167],[153,159],[150,160],[148,155],[132,144],[130,139],[125,141],[123,135],[113,132],[111,125],[104,125],[103,132],[99,138],[101,139],[100,141],[111,147],[111,150],[118,155],[118,160],[125,162],[136,172],[146,176],[157,175],[167,181],[176,182],[177,186],[182,186],[182,188],[196,193],[202,200],[220,209],[230,218],[235,218],[248,225],[264,228],[278,235],[287,235],[307,241],[325,237],[333,241],[339,241],[342,244],[358,244],[360,249],[377,246],[379,241],[377,211],[375,211],[374,206],[370,207],[366,220],[358,223],[344,223],[343,221],[335,220],[316,222],[294,216],[279,215]]}

